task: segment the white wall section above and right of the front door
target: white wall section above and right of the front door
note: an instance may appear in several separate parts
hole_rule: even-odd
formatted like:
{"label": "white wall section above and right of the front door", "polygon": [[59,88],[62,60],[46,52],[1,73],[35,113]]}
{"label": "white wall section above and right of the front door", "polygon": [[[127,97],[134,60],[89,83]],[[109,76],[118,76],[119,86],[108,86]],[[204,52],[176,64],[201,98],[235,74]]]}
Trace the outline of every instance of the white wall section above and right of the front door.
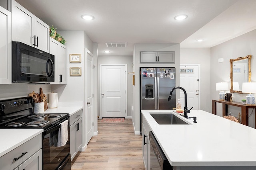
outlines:
{"label": "white wall section above and right of the front door", "polygon": [[200,64],[200,109],[211,113],[210,59],[210,48],[180,48],[180,64]]}

